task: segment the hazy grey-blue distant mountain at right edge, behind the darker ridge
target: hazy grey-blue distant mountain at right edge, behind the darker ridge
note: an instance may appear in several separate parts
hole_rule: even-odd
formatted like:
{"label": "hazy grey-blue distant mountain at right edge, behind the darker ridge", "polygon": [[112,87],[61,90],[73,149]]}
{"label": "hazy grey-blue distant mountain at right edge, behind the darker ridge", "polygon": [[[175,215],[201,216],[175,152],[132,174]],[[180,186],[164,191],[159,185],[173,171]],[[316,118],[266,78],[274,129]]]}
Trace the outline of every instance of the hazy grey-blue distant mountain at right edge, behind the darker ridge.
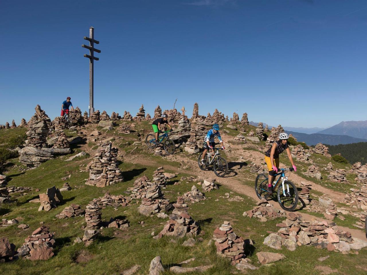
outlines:
{"label": "hazy grey-blue distant mountain at right edge, behind the darker ridge", "polygon": [[367,120],[342,121],[330,128],[317,132],[318,134],[349,135],[355,138],[367,138]]}

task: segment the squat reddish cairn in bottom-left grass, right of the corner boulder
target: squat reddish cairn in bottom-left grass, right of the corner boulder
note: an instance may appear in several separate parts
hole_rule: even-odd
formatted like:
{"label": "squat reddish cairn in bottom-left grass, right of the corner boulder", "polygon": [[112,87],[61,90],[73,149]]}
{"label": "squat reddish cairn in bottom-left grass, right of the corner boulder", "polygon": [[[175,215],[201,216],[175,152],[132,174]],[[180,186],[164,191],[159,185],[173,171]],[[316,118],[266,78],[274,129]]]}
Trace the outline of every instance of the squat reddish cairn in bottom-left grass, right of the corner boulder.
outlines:
{"label": "squat reddish cairn in bottom-left grass, right of the corner boulder", "polygon": [[18,249],[19,257],[26,257],[31,261],[48,260],[54,256],[54,234],[49,228],[41,226],[32,232],[31,236],[25,238],[25,242]]}

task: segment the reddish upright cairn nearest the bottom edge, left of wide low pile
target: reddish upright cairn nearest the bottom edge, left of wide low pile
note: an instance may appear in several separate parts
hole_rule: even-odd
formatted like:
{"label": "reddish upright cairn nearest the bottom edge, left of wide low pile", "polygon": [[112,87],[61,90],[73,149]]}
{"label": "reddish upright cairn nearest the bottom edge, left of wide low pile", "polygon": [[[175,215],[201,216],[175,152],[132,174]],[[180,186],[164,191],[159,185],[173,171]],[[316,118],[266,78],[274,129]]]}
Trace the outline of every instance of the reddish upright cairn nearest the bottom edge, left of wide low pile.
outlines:
{"label": "reddish upright cairn nearest the bottom edge, left of wide low pile", "polygon": [[240,263],[241,258],[246,258],[245,240],[233,232],[229,221],[224,221],[221,227],[216,228],[213,237],[217,255],[230,258],[232,264]]}

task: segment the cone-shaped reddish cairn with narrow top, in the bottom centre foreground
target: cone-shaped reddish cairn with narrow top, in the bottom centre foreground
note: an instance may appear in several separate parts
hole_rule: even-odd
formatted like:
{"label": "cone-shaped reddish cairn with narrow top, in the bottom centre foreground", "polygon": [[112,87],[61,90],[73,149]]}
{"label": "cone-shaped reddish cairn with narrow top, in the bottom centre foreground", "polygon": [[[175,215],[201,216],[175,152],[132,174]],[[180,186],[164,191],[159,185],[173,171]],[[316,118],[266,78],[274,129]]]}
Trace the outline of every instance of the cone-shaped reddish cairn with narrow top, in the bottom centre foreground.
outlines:
{"label": "cone-shaped reddish cairn with narrow top, in the bottom centre foreground", "polygon": [[199,224],[188,214],[189,207],[183,197],[177,197],[177,203],[174,203],[173,206],[175,208],[170,215],[170,220],[167,221],[162,231],[153,238],[160,239],[164,235],[177,238],[196,236],[199,232]]}

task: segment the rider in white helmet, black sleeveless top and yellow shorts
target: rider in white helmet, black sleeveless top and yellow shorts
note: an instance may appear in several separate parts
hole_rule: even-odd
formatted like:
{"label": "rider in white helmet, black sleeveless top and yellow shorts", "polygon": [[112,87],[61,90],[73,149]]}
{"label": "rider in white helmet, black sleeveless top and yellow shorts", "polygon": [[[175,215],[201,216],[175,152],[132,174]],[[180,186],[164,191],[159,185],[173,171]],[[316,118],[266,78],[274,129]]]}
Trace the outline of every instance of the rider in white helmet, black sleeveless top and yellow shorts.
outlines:
{"label": "rider in white helmet, black sleeveless top and yellow shorts", "polygon": [[273,192],[272,190],[273,178],[276,176],[276,174],[278,173],[278,169],[279,169],[279,154],[280,153],[283,153],[284,150],[287,150],[287,155],[292,164],[292,167],[294,171],[297,171],[297,167],[294,165],[291,151],[287,144],[287,140],[288,140],[288,134],[280,133],[279,140],[273,142],[272,147],[268,151],[265,152],[265,162],[266,162],[266,165],[268,165],[268,169],[269,169],[268,192],[270,194]]}

